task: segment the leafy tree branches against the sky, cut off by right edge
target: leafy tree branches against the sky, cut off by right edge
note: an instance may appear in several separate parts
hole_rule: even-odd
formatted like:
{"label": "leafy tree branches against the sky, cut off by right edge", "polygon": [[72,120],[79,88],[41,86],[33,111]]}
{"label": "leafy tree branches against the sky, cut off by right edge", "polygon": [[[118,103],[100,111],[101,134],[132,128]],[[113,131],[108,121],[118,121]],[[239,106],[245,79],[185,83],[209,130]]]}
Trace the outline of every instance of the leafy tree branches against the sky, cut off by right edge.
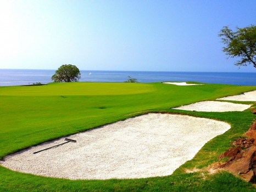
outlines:
{"label": "leafy tree branches against the sky, cut off by right edge", "polygon": [[229,27],[224,26],[220,30],[219,36],[226,46],[223,47],[223,52],[231,58],[241,58],[235,65],[253,64],[256,67],[256,26],[236,27],[236,29],[236,31],[232,31]]}

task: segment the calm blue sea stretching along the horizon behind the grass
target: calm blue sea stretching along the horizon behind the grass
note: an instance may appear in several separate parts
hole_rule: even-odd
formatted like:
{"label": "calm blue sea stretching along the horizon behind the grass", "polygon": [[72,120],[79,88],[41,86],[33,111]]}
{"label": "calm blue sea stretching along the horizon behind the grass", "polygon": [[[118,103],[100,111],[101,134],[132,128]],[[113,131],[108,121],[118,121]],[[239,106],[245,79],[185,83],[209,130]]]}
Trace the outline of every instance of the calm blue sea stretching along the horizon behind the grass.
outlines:
{"label": "calm blue sea stretching along the horizon behind the grass", "polygon": [[[80,82],[124,82],[127,76],[139,82],[197,81],[236,85],[256,85],[256,73],[245,72],[157,72],[157,71],[80,71]],[[52,82],[55,70],[0,69],[0,86]],[[90,75],[89,75],[90,74]]]}

